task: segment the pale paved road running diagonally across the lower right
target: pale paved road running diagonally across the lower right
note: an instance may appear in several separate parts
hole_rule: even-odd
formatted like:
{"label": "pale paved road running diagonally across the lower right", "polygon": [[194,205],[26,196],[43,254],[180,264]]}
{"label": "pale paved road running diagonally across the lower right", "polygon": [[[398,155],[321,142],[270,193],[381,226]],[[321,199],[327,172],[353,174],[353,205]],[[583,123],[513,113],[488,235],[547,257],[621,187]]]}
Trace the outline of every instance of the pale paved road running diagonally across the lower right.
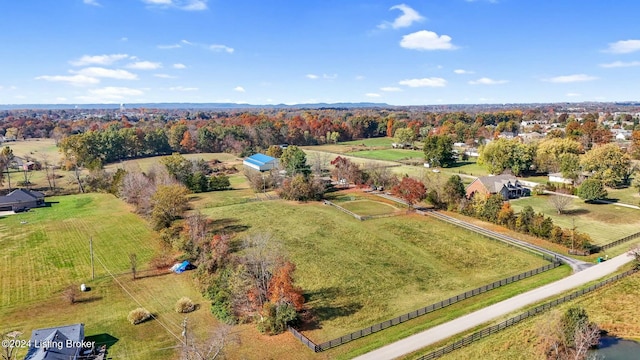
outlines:
{"label": "pale paved road running diagonally across the lower right", "polygon": [[497,304],[488,306],[471,314],[438,325],[429,330],[396,341],[378,350],[355,358],[356,360],[386,360],[394,359],[426,346],[445,340],[476,326],[485,324],[493,319],[507,315],[527,305],[537,303],[550,296],[564,293],[568,290],[600,279],[615,272],[620,266],[629,263],[633,257],[628,254],[617,256],[609,261],[594,265],[588,269],[575,273],[562,280],[514,296]]}

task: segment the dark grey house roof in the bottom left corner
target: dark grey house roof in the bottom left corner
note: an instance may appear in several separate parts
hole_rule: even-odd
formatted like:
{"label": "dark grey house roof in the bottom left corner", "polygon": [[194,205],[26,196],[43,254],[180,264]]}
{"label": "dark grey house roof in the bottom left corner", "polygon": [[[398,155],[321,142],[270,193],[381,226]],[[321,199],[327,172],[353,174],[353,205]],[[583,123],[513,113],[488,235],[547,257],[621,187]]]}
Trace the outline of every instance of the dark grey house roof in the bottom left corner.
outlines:
{"label": "dark grey house roof in the bottom left corner", "polygon": [[31,347],[25,360],[75,359],[79,347],[67,346],[67,340],[75,343],[83,341],[84,324],[33,330],[31,333]]}

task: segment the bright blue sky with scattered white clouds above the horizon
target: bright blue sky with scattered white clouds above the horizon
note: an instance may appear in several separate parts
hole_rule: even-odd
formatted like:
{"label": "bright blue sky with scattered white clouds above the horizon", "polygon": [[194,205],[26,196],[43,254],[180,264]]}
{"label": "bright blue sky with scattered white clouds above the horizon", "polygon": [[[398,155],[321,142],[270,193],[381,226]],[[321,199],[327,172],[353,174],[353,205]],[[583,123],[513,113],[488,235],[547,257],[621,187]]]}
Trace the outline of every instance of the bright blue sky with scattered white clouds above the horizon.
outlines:
{"label": "bright blue sky with scattered white clouds above the horizon", "polygon": [[1,1],[0,104],[640,100],[637,0]]}

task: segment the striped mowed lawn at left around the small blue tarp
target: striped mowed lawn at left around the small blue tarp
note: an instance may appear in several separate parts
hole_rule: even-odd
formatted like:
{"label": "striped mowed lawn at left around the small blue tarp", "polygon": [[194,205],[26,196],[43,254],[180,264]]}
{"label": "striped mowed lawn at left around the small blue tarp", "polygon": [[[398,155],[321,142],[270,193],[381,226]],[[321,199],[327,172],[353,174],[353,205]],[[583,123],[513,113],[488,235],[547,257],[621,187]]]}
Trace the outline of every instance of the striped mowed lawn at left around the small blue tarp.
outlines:
{"label": "striped mowed lawn at left around the small blue tarp", "polygon": [[[147,223],[131,214],[112,195],[85,194],[47,198],[51,207],[0,218],[0,333],[20,331],[28,339],[37,328],[82,322],[88,336],[108,334],[116,339],[109,349],[114,359],[175,357],[184,318],[173,310],[175,302],[189,296],[201,308],[189,315],[194,335],[217,323],[188,274],[147,276],[133,281],[126,273],[128,255],[137,254],[138,268],[147,269],[160,244]],[[22,223],[24,222],[24,223]],[[96,280],[91,280],[89,239],[95,256],[113,273],[132,299],[96,260]],[[142,276],[151,275],[141,272]],[[67,286],[86,283],[91,291],[81,302],[62,300]],[[133,326],[129,311],[139,307],[159,321]],[[165,327],[163,327],[162,325]],[[24,353],[19,353],[19,358]]]}

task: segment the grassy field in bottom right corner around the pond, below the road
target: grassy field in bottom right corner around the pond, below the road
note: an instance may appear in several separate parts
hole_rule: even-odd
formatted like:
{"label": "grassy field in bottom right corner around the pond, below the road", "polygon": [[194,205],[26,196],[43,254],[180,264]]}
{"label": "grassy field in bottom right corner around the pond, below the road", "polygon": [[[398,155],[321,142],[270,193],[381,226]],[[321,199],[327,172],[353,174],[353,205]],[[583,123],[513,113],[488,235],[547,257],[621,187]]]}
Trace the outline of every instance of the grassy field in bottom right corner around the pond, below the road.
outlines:
{"label": "grassy field in bottom right corner around the pond, below the road", "polygon": [[[564,312],[571,306],[580,306],[587,311],[589,319],[607,331],[609,336],[640,340],[640,308],[636,305],[638,296],[640,296],[640,274],[634,274],[551,311]],[[549,312],[546,312],[527,319],[445,355],[441,359],[528,360],[540,358],[541,355],[536,352],[535,346],[539,341],[540,329],[548,316]],[[442,344],[444,345],[446,344]],[[403,359],[415,359],[439,347],[431,347]]]}

